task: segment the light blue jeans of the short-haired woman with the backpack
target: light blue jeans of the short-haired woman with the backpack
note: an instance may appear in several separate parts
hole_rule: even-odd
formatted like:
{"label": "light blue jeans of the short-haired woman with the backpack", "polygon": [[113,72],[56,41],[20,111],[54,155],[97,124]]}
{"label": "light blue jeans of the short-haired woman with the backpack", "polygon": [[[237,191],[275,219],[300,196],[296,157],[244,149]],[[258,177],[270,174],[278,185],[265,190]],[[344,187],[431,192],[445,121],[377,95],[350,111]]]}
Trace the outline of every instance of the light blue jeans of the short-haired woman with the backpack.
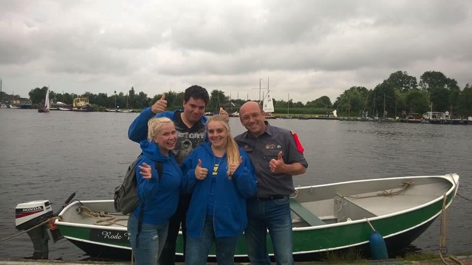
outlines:
{"label": "light blue jeans of the short-haired woman with the backpack", "polygon": [[128,237],[134,252],[137,265],[156,265],[167,238],[169,224],[151,225],[141,224],[141,232],[138,234],[138,218],[133,213],[129,214]]}

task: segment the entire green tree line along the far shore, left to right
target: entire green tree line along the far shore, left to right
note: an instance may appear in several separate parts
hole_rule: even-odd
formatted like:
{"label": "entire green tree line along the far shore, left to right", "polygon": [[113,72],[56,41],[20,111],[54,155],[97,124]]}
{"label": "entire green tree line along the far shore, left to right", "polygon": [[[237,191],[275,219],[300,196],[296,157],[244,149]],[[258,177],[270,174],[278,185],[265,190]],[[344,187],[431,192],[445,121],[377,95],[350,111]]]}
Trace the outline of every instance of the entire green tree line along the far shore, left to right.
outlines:
{"label": "entire green tree line along the far shore, left to right", "polygon": [[[33,104],[44,102],[47,90],[46,86],[31,89],[29,91],[31,102]],[[167,91],[165,94],[170,110],[182,108],[184,92]],[[136,93],[134,87],[131,87],[126,94],[115,91],[112,95],[91,92],[77,95],[56,93],[50,90],[49,97],[65,104],[72,104],[72,100],[76,97],[87,97],[90,104],[102,110],[115,107],[142,109],[159,100],[161,94],[150,98],[142,91]],[[13,95],[2,92],[2,100],[13,98],[15,98]],[[246,100],[243,99],[231,99],[222,90],[214,89],[210,92],[207,111],[215,111],[220,106],[228,111],[237,111],[245,102]],[[360,116],[362,112],[367,112],[368,116],[383,116],[383,109],[385,109],[386,116],[394,117],[400,116],[401,113],[421,114],[432,109],[442,112],[448,110],[468,116],[472,114],[472,87],[470,83],[467,83],[461,89],[455,79],[447,78],[441,72],[424,72],[417,82],[416,78],[408,75],[407,72],[397,71],[373,89],[363,86],[352,86],[346,89],[334,103],[331,103],[327,96],[305,104],[300,101],[294,102],[292,99],[285,101],[274,98],[273,102],[276,113],[286,113],[290,109],[291,113],[317,114],[336,109],[340,115]]]}

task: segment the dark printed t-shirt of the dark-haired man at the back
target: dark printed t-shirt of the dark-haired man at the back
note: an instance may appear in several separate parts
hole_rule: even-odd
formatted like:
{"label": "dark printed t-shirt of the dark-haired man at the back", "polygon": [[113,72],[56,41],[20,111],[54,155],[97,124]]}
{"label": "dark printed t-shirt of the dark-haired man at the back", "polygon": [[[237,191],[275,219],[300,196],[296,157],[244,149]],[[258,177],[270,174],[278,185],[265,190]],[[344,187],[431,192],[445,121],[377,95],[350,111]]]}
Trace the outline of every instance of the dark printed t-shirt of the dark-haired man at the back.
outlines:
{"label": "dark printed t-shirt of the dark-haired man at the back", "polygon": [[177,131],[177,145],[172,152],[176,156],[178,165],[182,164],[194,148],[205,142],[205,125],[198,121],[192,128],[188,128],[180,117],[181,113],[176,112],[173,120]]}

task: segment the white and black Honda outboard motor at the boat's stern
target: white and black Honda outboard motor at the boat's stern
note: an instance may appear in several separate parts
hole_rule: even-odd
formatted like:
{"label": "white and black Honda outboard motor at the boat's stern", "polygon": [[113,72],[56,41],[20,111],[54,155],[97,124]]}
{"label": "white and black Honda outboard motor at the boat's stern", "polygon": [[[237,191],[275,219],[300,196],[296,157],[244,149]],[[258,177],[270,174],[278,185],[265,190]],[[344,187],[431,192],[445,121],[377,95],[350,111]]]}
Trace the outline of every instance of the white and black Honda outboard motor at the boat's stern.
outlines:
{"label": "white and black Honda outboard motor at the boat's stern", "polygon": [[[51,203],[48,200],[18,204],[15,208],[16,229],[29,230],[53,216],[58,216],[59,212],[69,204],[74,196],[75,192],[69,196],[61,209],[56,213],[53,212]],[[63,238],[59,230],[51,228],[47,222],[29,230],[27,234],[33,242],[34,252],[31,258],[34,260],[47,260],[49,256],[48,241],[51,239],[56,243],[57,240]]]}

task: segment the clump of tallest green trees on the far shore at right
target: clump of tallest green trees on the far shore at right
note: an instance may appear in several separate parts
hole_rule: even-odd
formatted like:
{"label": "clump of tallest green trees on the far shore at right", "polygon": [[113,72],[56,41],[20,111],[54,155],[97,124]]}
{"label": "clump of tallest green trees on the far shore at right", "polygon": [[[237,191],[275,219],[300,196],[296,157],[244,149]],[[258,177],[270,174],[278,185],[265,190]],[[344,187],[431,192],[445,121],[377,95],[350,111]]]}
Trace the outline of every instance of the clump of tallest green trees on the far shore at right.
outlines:
{"label": "clump of tallest green trees on the far shore at right", "polygon": [[472,87],[467,83],[463,89],[455,79],[447,78],[441,72],[424,72],[419,82],[407,72],[397,71],[390,74],[373,89],[353,86],[346,89],[334,102],[333,108],[342,115],[387,117],[400,116],[402,113],[425,113],[446,110],[467,117],[472,114]]}

